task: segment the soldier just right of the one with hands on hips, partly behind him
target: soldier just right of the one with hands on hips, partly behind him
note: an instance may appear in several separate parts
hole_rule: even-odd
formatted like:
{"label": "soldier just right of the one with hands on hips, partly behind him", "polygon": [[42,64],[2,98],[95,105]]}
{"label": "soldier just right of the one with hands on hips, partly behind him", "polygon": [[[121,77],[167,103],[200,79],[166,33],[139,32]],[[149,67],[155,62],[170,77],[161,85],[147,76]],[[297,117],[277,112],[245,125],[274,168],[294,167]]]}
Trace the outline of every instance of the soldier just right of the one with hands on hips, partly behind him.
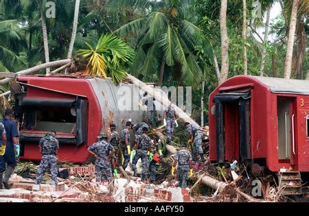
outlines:
{"label": "soldier just right of the one with hands on hips, partly behind him", "polygon": [[117,177],[118,176],[117,167],[119,167],[119,165],[121,164],[120,157],[119,157],[120,139],[119,139],[119,134],[116,131],[116,125],[113,123],[109,126],[109,128],[111,128],[111,136],[108,142],[111,143],[111,145],[113,145],[115,149],[115,154],[111,156],[111,163],[112,163],[112,169],[115,174],[115,177]]}

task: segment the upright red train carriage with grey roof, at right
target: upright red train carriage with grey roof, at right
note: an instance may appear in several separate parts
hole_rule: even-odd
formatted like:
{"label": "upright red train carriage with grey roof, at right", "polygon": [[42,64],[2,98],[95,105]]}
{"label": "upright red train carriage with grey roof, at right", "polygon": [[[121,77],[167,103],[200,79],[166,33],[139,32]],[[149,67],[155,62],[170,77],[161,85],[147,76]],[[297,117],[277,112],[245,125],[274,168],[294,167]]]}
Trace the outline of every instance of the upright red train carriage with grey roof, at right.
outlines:
{"label": "upright red train carriage with grey roof, at right", "polygon": [[309,81],[239,75],[209,96],[213,163],[309,172]]}

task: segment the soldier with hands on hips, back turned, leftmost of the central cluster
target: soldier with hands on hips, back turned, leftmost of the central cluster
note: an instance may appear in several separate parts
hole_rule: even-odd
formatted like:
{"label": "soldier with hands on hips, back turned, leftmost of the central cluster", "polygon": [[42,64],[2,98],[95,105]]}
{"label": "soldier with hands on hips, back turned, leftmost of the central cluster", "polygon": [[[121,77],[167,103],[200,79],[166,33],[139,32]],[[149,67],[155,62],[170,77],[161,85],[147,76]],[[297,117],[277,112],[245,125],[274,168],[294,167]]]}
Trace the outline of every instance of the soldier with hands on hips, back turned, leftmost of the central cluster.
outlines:
{"label": "soldier with hands on hips, back turned, leftmost of the central cluster", "polygon": [[104,186],[108,185],[108,182],[112,178],[111,172],[111,156],[115,153],[115,149],[111,143],[107,142],[107,134],[102,133],[98,136],[97,143],[93,143],[88,148],[88,152],[93,154],[95,160],[95,180],[97,184],[100,184],[102,178]]}

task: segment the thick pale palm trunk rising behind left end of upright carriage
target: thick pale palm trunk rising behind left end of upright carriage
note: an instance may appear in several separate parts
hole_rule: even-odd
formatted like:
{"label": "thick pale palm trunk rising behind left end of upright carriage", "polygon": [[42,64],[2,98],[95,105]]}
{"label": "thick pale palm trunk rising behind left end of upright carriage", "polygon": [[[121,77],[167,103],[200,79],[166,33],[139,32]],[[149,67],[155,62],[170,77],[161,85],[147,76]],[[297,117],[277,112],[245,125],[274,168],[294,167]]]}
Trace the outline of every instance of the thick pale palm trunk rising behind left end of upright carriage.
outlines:
{"label": "thick pale palm trunk rising behind left end of upright carriage", "polygon": [[227,36],[227,0],[221,0],[220,8],[220,33],[221,33],[221,73],[219,85],[227,80],[229,75],[229,41]]}

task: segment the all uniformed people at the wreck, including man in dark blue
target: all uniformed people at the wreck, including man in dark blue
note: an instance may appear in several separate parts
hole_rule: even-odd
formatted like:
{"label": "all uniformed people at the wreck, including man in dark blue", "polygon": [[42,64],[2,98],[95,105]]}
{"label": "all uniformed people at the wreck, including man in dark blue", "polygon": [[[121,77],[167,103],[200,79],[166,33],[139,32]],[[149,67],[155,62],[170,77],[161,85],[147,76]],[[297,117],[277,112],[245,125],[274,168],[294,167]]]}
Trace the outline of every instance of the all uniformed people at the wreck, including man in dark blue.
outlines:
{"label": "all uniformed people at the wreck, including man in dark blue", "polygon": [[[144,95],[147,96],[147,95]],[[153,110],[152,110],[153,111]],[[161,150],[161,141],[159,139],[151,139],[148,136],[148,130],[154,125],[149,125],[154,113],[148,113],[148,123],[140,122],[133,125],[131,121],[127,121],[125,128],[119,134],[116,130],[116,125],[111,124],[109,128],[111,133],[100,133],[98,142],[89,146],[88,152],[95,157],[95,177],[98,184],[103,183],[107,185],[114,176],[118,177],[118,168],[123,167],[125,170],[130,163],[132,156],[133,176],[137,176],[137,162],[141,159],[142,172],[141,180],[146,181],[150,176],[150,182],[156,181],[157,163],[163,156]],[[150,118],[151,117],[151,118]],[[16,123],[11,120],[12,110],[5,110],[5,118],[0,122],[0,189],[2,183],[5,189],[10,189],[8,179],[16,167],[16,158],[19,157],[19,131]],[[172,134],[175,127],[178,127],[176,121],[175,110],[172,104],[168,106],[163,115],[163,125],[166,132],[166,145],[172,145]],[[202,149],[203,132],[191,123],[186,122],[185,127],[190,135],[188,144],[191,146],[192,152],[187,149],[187,145],[181,145],[181,149],[176,152],[175,162],[172,165],[172,175],[178,163],[177,176],[179,179],[179,187],[185,189],[187,187],[187,180],[192,176],[192,163],[197,162],[199,155],[199,162],[205,161]],[[131,148],[130,130],[135,134],[133,148]],[[56,131],[48,132],[39,142],[39,149],[42,154],[41,163],[38,167],[38,175],[35,181],[35,188],[41,184],[45,171],[49,169],[52,174],[54,185],[58,184],[57,175],[57,152],[59,149],[59,142],[56,139]],[[120,150],[122,155],[120,154]],[[122,159],[123,158],[123,159]],[[6,167],[7,165],[7,167]],[[3,178],[3,172],[5,177]]]}

